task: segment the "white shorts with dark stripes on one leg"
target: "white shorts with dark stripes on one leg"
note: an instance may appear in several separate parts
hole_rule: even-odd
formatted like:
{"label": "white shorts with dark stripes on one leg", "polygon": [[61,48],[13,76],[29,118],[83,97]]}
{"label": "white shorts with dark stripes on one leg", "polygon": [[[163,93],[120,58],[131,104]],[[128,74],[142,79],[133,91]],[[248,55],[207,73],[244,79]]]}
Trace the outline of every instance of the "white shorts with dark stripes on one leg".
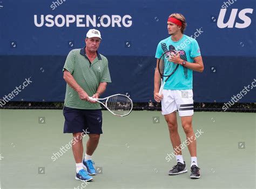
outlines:
{"label": "white shorts with dark stripes on one leg", "polygon": [[194,114],[193,91],[191,90],[163,90],[161,100],[162,114],[166,115],[179,111],[179,116],[192,116]]}

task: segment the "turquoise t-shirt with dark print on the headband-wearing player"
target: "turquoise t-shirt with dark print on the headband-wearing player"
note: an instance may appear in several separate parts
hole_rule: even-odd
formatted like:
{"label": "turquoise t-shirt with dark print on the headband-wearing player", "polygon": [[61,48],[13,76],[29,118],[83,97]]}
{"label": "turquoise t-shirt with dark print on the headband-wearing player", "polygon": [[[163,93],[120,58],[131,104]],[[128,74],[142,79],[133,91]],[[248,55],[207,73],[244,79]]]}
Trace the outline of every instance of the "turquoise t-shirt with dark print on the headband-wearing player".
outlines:
{"label": "turquoise t-shirt with dark print on the headband-wearing player", "polygon": [[[175,49],[172,49],[173,46]],[[177,50],[180,58],[193,63],[194,57],[201,56],[200,48],[196,39],[183,35],[178,41],[174,42],[170,37],[163,39],[157,46],[156,58],[160,58],[165,51]],[[165,78],[164,78],[165,79]],[[189,90],[193,89],[193,71],[182,65],[178,66],[176,72],[167,80],[164,89],[166,90]]]}

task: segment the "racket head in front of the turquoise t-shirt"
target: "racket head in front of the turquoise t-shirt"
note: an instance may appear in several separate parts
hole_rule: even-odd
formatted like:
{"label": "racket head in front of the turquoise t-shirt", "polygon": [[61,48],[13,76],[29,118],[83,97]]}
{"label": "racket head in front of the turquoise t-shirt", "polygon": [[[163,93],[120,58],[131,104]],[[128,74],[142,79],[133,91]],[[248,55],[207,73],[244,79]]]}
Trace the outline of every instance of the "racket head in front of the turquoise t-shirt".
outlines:
{"label": "racket head in front of the turquoise t-shirt", "polygon": [[158,71],[161,78],[171,76],[177,69],[178,64],[174,64],[169,61],[169,58],[173,55],[176,55],[177,52],[174,50],[166,51],[158,59]]}

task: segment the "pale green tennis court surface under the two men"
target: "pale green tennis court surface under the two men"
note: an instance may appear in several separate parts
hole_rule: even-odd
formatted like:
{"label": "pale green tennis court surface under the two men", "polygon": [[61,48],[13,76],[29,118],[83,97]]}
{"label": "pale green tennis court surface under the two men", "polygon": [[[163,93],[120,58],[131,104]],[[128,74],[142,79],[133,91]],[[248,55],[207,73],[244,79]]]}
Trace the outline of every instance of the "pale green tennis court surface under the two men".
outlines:
{"label": "pale green tennis court surface under the two men", "polygon": [[[187,147],[188,172],[167,175],[176,159],[166,160],[173,150],[160,112],[120,118],[103,111],[93,154],[100,173],[86,185],[75,180],[72,150],[61,153],[72,139],[62,133],[61,110],[0,110],[1,188],[255,188],[255,122],[255,113],[195,112],[201,178],[192,180]],[[179,133],[183,143],[180,120]],[[53,153],[62,156],[53,161]]]}

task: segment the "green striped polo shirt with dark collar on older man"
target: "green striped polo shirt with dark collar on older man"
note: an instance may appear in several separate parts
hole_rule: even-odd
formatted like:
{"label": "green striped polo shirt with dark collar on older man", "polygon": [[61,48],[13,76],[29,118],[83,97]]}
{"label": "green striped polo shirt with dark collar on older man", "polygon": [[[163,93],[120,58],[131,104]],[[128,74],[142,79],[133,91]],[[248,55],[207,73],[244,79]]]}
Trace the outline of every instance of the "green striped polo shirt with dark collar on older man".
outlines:
{"label": "green striped polo shirt with dark collar on older man", "polygon": [[[68,70],[78,85],[91,97],[102,82],[111,83],[109,64],[107,58],[97,52],[97,57],[91,63],[85,53],[85,48],[73,49],[66,57],[63,68]],[[76,90],[66,84],[65,103],[66,107],[75,109],[101,109],[100,104],[92,104],[81,100]]]}

